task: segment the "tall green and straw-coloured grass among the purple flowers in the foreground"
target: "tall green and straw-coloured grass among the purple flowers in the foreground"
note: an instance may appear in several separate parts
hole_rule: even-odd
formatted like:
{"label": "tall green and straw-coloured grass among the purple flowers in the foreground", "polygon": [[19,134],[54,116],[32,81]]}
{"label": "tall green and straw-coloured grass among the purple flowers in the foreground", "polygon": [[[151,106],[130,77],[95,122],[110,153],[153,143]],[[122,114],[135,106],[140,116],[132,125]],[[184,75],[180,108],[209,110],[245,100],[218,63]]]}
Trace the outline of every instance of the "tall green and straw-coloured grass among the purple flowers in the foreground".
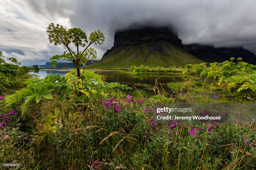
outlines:
{"label": "tall green and straw-coloured grass among the purple flowers in the foreground", "polygon": [[[13,109],[18,114],[1,127],[0,149],[4,154],[0,161],[19,162],[24,169],[90,169],[96,160],[92,168],[255,169],[253,123],[154,126],[150,109],[156,103],[254,103],[225,91],[216,80],[190,75],[183,78],[184,82],[168,83],[171,97],[157,81],[153,94],[140,89],[118,93],[113,98],[121,102],[118,115],[113,110],[116,103],[105,108],[100,92],[91,94],[77,108],[76,96],[61,99],[53,93],[53,100],[32,102],[24,116],[20,115],[19,103],[11,109],[1,106],[2,114]],[[216,92],[218,100],[211,98]],[[127,94],[137,101],[129,102]],[[104,96],[103,100],[108,102],[110,97]],[[191,128],[202,129],[193,137],[188,133]]]}

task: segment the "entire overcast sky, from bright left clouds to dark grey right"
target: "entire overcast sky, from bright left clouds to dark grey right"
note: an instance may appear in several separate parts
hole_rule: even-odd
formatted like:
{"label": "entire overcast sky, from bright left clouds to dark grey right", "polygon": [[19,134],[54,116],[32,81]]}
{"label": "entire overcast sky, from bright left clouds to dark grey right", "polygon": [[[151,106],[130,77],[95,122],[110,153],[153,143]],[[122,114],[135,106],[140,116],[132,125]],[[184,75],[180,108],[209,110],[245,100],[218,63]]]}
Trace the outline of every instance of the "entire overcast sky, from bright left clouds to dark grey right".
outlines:
{"label": "entire overcast sky, from bright left clouds to dark grey right", "polygon": [[115,30],[136,24],[169,25],[183,44],[243,46],[256,54],[255,0],[1,0],[0,51],[22,65],[45,64],[62,54],[49,43],[46,28],[59,23],[89,34],[100,30],[102,45],[93,46],[98,59],[113,46]]}

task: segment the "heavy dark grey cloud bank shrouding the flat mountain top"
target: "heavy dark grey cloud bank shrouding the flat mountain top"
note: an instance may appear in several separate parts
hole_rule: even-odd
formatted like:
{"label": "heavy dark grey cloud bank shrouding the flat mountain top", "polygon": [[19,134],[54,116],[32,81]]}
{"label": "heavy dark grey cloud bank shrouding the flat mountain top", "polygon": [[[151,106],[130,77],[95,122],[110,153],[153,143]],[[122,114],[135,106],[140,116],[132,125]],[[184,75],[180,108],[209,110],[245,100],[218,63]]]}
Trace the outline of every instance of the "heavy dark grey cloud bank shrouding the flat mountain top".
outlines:
{"label": "heavy dark grey cloud bank shrouding the flat mountain top", "polygon": [[[105,37],[111,48],[115,30],[173,25],[184,44],[244,46],[255,52],[256,1],[80,1],[69,16],[74,26]],[[78,16],[79,14],[79,16]]]}

